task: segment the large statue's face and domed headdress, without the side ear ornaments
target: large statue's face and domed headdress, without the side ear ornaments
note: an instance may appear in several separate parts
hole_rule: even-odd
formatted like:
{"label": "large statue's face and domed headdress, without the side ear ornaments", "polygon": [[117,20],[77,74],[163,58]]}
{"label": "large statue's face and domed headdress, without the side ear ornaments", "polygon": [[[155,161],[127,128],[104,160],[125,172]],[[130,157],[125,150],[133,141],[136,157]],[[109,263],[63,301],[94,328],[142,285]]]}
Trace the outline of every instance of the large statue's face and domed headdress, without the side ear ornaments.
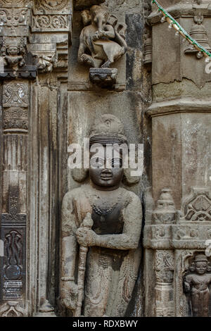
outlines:
{"label": "large statue's face and domed headdress, without the side ear ornaments", "polygon": [[96,187],[104,189],[119,187],[124,169],[122,168],[122,149],[118,147],[122,144],[127,147],[121,121],[111,114],[102,115],[96,120],[91,130],[89,142],[91,182]]}

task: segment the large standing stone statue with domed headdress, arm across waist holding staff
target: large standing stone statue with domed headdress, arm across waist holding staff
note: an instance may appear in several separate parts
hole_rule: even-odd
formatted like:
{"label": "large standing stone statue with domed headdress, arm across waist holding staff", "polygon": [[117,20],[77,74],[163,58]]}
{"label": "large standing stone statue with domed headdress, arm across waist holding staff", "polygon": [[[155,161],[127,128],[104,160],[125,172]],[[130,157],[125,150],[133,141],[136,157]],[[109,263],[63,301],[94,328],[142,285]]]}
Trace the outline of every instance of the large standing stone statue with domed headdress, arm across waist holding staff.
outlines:
{"label": "large standing stone statue with domed headdress, arm across waist holding staff", "polygon": [[[126,142],[120,120],[103,115],[91,132],[90,149]],[[141,258],[141,201],[120,187],[122,156],[107,159],[112,167],[106,168],[94,155],[90,150],[90,183],[63,199],[60,299],[74,316],[124,316]]]}

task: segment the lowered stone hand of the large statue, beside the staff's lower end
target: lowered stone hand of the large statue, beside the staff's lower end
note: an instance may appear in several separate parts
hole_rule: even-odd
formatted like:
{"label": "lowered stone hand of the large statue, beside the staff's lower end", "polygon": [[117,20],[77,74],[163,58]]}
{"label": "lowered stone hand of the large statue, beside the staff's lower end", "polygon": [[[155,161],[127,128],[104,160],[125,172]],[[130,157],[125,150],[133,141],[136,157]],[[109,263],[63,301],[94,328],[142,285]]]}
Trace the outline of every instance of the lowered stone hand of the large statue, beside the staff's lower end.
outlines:
{"label": "lowered stone hand of the large statue, beside the staff's lower end", "polygon": [[78,287],[73,281],[62,281],[60,299],[65,308],[74,310],[77,304]]}

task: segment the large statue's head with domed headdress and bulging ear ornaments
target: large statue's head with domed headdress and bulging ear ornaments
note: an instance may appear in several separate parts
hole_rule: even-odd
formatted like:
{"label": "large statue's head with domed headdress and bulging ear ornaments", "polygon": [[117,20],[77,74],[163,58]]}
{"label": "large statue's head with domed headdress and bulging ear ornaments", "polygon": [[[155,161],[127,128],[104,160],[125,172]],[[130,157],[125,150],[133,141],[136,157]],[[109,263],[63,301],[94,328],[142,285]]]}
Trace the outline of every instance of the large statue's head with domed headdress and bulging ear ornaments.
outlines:
{"label": "large statue's head with domed headdress and bulging ear ornaments", "polygon": [[[113,145],[110,151],[113,151],[114,155],[109,153],[110,155],[106,157],[106,150],[109,151],[108,144]],[[89,146],[86,148],[89,148],[90,167],[89,170],[72,169],[72,177],[75,181],[83,182],[89,173],[91,182],[96,187],[104,189],[119,187],[122,178],[127,185],[139,182],[140,176],[132,176],[131,168],[122,167],[124,151],[128,153],[128,146],[127,138],[124,136],[124,126],[119,118],[112,114],[103,114],[97,118],[91,129]]]}

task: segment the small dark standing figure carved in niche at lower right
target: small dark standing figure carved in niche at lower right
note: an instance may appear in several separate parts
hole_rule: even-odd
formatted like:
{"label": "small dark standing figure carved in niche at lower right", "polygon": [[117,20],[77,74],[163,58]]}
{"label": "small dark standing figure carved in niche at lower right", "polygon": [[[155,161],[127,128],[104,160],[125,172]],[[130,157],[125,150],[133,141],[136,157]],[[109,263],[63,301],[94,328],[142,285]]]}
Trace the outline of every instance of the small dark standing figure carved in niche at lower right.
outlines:
{"label": "small dark standing figure carved in niche at lower right", "polygon": [[192,313],[195,317],[207,317],[210,304],[211,273],[207,257],[195,256],[190,268],[191,273],[184,277],[184,292],[191,294]]}

